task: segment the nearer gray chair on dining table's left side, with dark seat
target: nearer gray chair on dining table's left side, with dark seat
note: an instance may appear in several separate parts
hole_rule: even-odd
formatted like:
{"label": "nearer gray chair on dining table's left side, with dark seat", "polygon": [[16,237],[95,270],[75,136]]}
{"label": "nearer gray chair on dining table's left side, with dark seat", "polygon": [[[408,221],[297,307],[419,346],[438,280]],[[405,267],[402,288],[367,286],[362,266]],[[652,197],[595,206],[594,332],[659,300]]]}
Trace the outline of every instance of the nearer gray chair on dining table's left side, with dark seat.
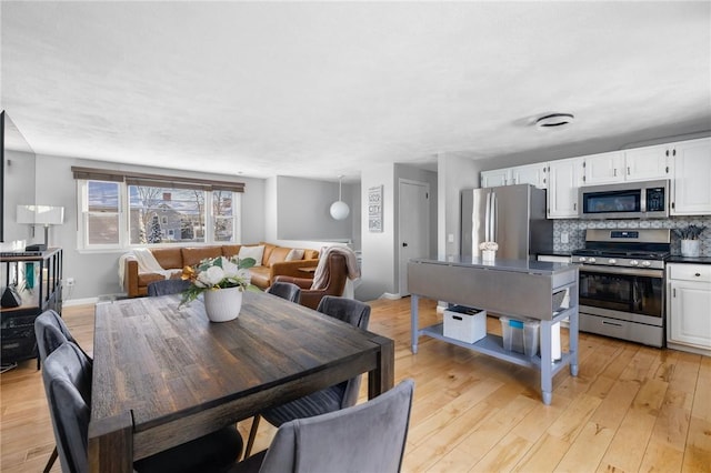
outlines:
{"label": "nearer gray chair on dining table's left side, with dark seat", "polygon": [[[44,360],[42,379],[62,471],[89,471],[88,436],[92,365],[73,343],[66,342]],[[242,451],[234,426],[160,452],[133,464],[138,472],[224,471]]]}

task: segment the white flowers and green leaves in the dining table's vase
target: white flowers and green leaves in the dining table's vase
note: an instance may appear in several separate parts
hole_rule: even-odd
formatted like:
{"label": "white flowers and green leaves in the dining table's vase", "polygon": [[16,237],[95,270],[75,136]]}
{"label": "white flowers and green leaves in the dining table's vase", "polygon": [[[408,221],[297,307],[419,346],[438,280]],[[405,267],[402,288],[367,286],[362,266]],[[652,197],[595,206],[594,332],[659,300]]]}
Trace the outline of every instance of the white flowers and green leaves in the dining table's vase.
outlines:
{"label": "white flowers and green leaves in the dining table's vase", "polygon": [[183,268],[181,278],[191,284],[182,293],[181,305],[194,301],[204,291],[226,288],[240,288],[240,291],[244,291],[251,282],[249,268],[254,263],[253,258],[240,260],[237,256],[218,256],[207,258],[194,268]]}

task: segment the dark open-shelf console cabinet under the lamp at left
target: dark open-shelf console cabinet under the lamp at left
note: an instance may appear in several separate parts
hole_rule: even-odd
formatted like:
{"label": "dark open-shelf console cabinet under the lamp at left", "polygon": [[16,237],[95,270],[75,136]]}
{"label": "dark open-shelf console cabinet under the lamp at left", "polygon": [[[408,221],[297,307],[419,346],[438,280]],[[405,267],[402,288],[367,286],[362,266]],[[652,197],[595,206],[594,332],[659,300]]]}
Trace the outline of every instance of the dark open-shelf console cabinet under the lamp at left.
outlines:
{"label": "dark open-shelf console cabinet under the lamp at left", "polygon": [[[1,308],[3,365],[37,358],[34,319],[42,312],[62,310],[62,250],[6,252],[0,254],[2,288],[17,284],[22,303]],[[38,361],[39,363],[39,361]]]}

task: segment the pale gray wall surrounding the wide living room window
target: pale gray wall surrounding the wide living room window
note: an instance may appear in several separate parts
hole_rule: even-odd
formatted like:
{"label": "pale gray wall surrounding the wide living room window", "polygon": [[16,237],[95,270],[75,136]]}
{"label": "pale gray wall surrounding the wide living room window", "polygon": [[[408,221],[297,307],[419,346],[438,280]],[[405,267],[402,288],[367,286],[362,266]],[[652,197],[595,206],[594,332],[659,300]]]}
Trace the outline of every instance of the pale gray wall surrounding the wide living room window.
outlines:
{"label": "pale gray wall surrounding the wide living room window", "polygon": [[[50,230],[50,243],[64,251],[63,275],[74,278],[72,292],[64,291],[64,299],[88,299],[102,294],[120,293],[118,260],[124,252],[79,252],[77,250],[77,184],[71,167],[90,167],[112,170],[131,170],[148,173],[166,173],[164,169],[121,165],[73,158],[38,155],[36,169],[37,203],[63,205],[64,224]],[[174,175],[224,180],[224,175],[201,174],[170,170]],[[236,178],[244,182],[242,194],[241,234],[243,242],[264,240],[264,181],[262,179]],[[43,238],[39,235],[40,240]]]}

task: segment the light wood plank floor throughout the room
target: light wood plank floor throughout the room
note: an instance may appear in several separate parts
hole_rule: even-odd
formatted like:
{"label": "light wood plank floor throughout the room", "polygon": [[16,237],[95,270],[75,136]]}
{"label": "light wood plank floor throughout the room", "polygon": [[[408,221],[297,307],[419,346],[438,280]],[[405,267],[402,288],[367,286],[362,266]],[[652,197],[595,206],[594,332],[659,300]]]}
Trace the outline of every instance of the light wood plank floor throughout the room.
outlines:
{"label": "light wood plank floor throughout the room", "polygon": [[[559,373],[547,406],[535,371],[427,338],[413,355],[409,304],[372,302],[370,323],[395,340],[395,382],[415,381],[404,472],[711,471],[711,359],[583,333],[579,376]],[[420,314],[440,318],[431,301]],[[93,308],[63,316],[91,351]],[[39,472],[54,442],[41,375],[29,361],[0,379],[0,470]],[[273,433],[262,422],[256,451]]]}

